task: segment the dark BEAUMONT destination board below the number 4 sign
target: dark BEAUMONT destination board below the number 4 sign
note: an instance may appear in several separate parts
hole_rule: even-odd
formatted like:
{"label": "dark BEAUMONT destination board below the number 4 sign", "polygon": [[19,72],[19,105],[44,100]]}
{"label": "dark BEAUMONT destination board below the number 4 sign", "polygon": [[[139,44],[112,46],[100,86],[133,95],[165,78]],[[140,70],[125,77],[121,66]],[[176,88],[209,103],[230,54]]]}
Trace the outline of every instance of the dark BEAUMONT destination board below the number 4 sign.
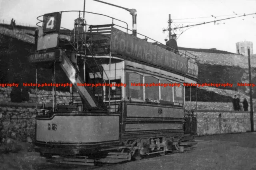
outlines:
{"label": "dark BEAUMONT destination board below the number 4 sign", "polygon": [[45,53],[34,53],[29,56],[30,63],[46,62],[46,61],[59,61],[60,62],[60,50],[49,51]]}

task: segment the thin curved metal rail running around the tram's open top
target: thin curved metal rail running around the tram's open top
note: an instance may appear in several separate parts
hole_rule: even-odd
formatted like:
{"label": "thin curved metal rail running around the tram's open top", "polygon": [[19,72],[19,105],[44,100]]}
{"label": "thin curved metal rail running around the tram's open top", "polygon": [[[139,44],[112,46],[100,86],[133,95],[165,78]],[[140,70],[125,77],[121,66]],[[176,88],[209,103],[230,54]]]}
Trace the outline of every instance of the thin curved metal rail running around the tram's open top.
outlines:
{"label": "thin curved metal rail running around the tram's open top", "polygon": [[[126,24],[126,27],[122,27],[121,25],[117,25],[116,23],[115,23],[114,25],[116,25],[116,26],[118,26],[118,27],[121,27],[121,28],[123,28],[123,29],[126,29],[126,33],[128,33],[128,30],[129,30],[129,31],[132,31],[132,33],[134,33],[133,30],[128,29],[128,23],[127,23],[127,22],[122,21],[122,20],[118,20],[118,19],[116,19],[116,18],[107,16],[107,15],[104,15],[104,14],[99,14],[99,13],[95,13],[95,12],[81,11],[81,10],[68,10],[68,11],[60,11],[60,12],[56,12],[56,13],[64,13],[64,12],[79,12],[79,13],[80,13],[80,12],[85,12],[85,13],[89,13],[89,14],[96,14],[96,15],[100,15],[100,16],[105,16],[105,17],[111,18],[111,19],[112,19],[112,23],[114,22],[114,20],[120,21],[120,22],[122,22],[122,23],[125,23],[125,24]],[[39,18],[40,18],[40,17],[43,17],[43,16],[44,16],[44,15],[41,15],[41,16],[38,16],[38,17],[36,18],[36,19],[39,21],[38,23],[36,23],[36,25],[37,25],[38,27],[41,27],[41,26],[38,25],[38,24],[41,23],[41,22],[43,22],[43,21],[40,20]],[[89,25],[89,24],[87,24],[87,25]],[[66,28],[64,28],[64,27],[61,27],[61,28],[66,29]],[[67,29],[67,30],[69,30],[69,29]],[[166,47],[166,48],[168,47],[168,48],[172,49],[173,51],[177,51],[177,50],[173,49],[172,47],[169,47],[169,46],[167,46],[167,45],[164,45],[164,44],[160,43],[159,41],[156,41],[156,40],[154,40],[154,39],[152,39],[152,38],[150,38],[150,37],[148,37],[148,36],[146,36],[146,35],[143,35],[143,34],[138,33],[138,32],[136,32],[136,33],[137,33],[138,35],[142,35],[143,37],[145,37],[146,40],[147,40],[147,39],[151,39],[152,41],[155,41],[156,43],[159,43],[160,45],[163,45],[163,46]],[[185,51],[185,53],[182,53],[182,52],[180,52],[180,51],[177,51],[177,52],[178,52],[179,54],[183,54],[186,59],[188,59],[188,60],[194,60],[195,63],[198,63],[198,57],[197,57],[196,55],[193,55],[192,53],[189,53],[188,51]],[[190,55],[187,55],[187,53],[190,54]],[[191,56],[191,55],[192,55],[192,56]]]}

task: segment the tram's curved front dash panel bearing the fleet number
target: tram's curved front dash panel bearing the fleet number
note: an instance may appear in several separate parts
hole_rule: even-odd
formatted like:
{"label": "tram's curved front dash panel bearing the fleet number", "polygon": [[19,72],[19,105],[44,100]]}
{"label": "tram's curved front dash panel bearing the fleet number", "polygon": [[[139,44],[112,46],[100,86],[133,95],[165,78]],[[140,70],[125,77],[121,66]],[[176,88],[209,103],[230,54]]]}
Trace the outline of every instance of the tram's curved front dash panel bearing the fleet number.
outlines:
{"label": "tram's curved front dash panel bearing the fleet number", "polygon": [[121,114],[57,113],[36,118],[36,143],[92,145],[120,142]]}

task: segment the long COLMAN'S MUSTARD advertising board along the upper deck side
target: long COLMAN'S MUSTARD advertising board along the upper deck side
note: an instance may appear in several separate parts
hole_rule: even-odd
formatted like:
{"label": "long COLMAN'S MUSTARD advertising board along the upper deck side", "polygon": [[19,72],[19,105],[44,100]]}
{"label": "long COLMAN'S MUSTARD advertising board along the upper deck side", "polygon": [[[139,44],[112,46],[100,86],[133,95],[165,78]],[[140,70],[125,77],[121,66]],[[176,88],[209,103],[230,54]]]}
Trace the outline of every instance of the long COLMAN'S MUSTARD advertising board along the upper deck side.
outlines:
{"label": "long COLMAN'S MUSTARD advertising board along the upper deck side", "polygon": [[[174,54],[162,47],[112,28],[112,51],[131,59],[154,64],[168,70],[198,77],[198,65],[193,62],[188,68],[188,59]],[[194,65],[193,65],[193,64]],[[194,67],[192,67],[192,65]]]}

